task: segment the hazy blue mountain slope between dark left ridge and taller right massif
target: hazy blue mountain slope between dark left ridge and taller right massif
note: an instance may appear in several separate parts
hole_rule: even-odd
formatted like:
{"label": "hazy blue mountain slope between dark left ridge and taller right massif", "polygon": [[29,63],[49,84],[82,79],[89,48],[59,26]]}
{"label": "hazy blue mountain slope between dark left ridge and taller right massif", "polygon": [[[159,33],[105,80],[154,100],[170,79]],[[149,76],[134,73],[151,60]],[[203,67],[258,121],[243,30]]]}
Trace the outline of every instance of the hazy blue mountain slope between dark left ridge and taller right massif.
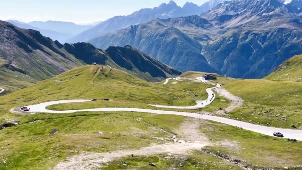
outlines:
{"label": "hazy blue mountain slope between dark left ridge and taller right massif", "polygon": [[180,71],[219,72],[200,54],[213,25],[198,16],[154,19],[91,40],[98,48],[131,45]]}

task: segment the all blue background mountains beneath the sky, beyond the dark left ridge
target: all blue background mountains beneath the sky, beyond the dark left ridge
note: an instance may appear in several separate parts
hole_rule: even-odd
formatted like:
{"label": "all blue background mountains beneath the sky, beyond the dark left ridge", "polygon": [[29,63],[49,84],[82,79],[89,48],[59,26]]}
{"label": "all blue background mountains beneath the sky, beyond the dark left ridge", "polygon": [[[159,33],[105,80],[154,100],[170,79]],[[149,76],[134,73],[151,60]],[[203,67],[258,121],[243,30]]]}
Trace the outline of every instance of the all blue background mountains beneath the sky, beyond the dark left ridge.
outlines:
{"label": "all blue background mountains beneath the sky, beyond the dark left ridge", "polygon": [[63,36],[59,42],[92,27],[76,41],[89,42],[98,50],[134,47],[180,71],[262,78],[302,53],[301,4],[302,0],[211,0],[202,6],[179,7],[170,1],[94,27],[57,21],[10,22],[52,39]]}

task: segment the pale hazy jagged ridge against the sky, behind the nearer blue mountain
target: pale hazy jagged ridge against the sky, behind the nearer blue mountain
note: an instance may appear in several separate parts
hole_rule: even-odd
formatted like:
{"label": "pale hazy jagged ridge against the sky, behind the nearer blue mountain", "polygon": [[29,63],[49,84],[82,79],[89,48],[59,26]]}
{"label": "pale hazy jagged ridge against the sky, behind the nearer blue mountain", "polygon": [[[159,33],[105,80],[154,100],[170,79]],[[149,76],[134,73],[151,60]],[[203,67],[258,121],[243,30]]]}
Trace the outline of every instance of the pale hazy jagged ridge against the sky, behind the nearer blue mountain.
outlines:
{"label": "pale hazy jagged ridge against the sky, behind the nearer blue mountain", "polygon": [[130,25],[144,23],[154,18],[167,19],[182,16],[200,15],[203,12],[207,12],[218,3],[224,1],[225,0],[210,0],[202,6],[187,2],[183,7],[178,6],[174,1],[170,1],[168,4],[163,3],[158,7],[141,9],[127,16],[115,16],[113,18],[110,18],[104,22],[99,23],[93,28],[71,38],[68,42],[87,42],[105,33],[114,32],[118,29],[125,28]]}

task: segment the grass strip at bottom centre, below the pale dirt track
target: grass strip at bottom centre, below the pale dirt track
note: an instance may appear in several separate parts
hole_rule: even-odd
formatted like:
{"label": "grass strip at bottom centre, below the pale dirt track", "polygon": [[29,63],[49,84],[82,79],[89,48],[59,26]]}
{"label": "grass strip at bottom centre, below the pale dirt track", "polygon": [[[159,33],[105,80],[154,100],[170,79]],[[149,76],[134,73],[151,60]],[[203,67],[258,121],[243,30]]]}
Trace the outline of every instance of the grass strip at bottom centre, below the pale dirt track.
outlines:
{"label": "grass strip at bottom centre, below the pale dirt track", "polygon": [[[153,163],[151,166],[150,163]],[[102,170],[242,170],[240,167],[201,151],[186,155],[160,154],[156,156],[125,157],[110,162]]]}

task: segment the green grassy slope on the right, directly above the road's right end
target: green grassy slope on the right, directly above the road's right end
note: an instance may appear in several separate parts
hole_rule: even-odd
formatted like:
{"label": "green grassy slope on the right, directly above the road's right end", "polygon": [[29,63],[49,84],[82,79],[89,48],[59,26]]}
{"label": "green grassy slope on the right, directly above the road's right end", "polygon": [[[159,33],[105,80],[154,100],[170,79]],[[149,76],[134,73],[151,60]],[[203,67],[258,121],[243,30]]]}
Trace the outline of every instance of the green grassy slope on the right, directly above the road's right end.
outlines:
{"label": "green grassy slope on the right, directly above the road's right end", "polygon": [[232,118],[266,125],[302,129],[302,84],[264,79],[234,80],[224,85],[245,100],[242,108],[230,113]]}

